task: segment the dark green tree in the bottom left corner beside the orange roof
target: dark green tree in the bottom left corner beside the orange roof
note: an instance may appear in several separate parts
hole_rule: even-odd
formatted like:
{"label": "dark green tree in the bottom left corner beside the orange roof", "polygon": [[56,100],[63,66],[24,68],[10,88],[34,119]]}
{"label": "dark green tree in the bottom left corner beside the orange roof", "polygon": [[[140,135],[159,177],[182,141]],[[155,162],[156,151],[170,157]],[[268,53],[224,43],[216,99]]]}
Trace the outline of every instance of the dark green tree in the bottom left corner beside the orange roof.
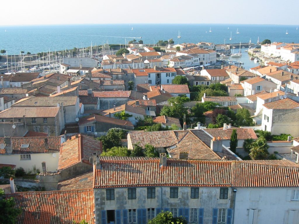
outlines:
{"label": "dark green tree in the bottom left corner beside the orange roof", "polygon": [[15,206],[14,198],[4,199],[4,191],[0,189],[0,223],[15,224],[17,222],[17,217],[22,210]]}

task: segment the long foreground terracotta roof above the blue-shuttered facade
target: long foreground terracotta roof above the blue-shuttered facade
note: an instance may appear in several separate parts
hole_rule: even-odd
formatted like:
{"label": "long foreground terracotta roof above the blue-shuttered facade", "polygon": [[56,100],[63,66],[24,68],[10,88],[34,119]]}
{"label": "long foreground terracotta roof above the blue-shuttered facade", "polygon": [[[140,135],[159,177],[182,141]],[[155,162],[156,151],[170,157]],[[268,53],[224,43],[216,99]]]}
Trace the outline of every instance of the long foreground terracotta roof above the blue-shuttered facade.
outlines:
{"label": "long foreground terracotta roof above the blue-shuttered facade", "polygon": [[[299,167],[247,161],[211,161],[158,158],[100,157],[94,188],[129,186],[297,187]],[[153,172],[154,171],[154,172]],[[114,177],[114,178],[107,178]],[[194,178],[196,177],[196,178]]]}

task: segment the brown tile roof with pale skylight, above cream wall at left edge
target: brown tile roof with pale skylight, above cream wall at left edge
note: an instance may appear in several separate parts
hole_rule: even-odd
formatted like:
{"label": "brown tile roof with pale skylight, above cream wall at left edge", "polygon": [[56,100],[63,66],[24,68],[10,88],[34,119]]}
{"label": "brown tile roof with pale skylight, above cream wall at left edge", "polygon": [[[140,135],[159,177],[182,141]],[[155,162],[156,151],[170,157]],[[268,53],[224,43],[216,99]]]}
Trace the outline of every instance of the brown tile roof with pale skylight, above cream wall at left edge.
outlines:
{"label": "brown tile roof with pale skylight, above cream wall at left edge", "polygon": [[[45,148],[45,139],[48,139],[48,148]],[[48,137],[11,137],[12,154],[32,154],[32,153],[54,153],[59,152],[60,136]],[[0,138],[0,144],[4,144],[4,138]],[[24,145],[28,144],[28,148]],[[0,149],[0,154],[5,154],[5,149]]]}

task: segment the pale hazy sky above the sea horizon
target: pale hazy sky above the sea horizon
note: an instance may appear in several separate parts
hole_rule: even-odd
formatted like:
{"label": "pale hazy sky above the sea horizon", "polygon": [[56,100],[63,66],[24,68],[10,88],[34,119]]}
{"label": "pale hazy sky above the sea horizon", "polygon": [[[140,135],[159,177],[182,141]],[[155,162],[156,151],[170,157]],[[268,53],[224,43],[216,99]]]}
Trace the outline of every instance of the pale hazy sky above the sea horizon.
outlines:
{"label": "pale hazy sky above the sea horizon", "polygon": [[298,0],[5,0],[0,26],[31,24],[231,23],[297,25]]}

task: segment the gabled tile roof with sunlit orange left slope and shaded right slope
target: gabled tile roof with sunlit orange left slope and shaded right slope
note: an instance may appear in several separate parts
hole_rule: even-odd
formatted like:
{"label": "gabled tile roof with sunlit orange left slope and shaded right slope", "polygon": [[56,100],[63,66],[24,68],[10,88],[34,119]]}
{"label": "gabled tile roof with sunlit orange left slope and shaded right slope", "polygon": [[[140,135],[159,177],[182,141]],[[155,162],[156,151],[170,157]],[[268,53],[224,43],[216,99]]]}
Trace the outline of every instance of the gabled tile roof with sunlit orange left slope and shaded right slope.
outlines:
{"label": "gabled tile roof with sunlit orange left slope and shaded right slope", "polygon": [[79,134],[62,143],[59,153],[58,170],[62,170],[79,162],[89,163],[94,152],[102,152],[100,141]]}

